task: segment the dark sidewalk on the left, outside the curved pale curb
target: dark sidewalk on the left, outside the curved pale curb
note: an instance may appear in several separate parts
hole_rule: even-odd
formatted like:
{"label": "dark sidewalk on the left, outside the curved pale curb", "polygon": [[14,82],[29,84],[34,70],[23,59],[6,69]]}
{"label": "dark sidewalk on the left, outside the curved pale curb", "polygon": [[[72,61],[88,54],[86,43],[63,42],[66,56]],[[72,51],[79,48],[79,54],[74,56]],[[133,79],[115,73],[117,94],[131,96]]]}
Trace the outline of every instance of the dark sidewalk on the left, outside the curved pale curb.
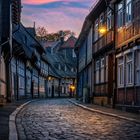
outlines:
{"label": "dark sidewalk on the left, outside the curved pale curb", "polygon": [[5,106],[0,106],[0,140],[9,139],[9,116],[17,107],[27,101],[29,100],[21,100],[14,103],[7,103]]}

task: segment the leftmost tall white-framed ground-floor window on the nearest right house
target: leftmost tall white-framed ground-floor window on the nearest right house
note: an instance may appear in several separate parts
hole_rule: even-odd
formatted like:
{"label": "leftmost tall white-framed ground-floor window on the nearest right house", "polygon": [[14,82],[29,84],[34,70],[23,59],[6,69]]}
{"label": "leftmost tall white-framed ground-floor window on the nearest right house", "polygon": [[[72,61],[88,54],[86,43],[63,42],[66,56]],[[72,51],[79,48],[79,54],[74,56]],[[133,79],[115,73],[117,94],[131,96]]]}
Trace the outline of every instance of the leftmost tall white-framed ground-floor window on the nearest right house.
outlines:
{"label": "leftmost tall white-framed ground-floor window on the nearest right house", "polygon": [[118,59],[118,86],[124,85],[124,62],[123,57]]}

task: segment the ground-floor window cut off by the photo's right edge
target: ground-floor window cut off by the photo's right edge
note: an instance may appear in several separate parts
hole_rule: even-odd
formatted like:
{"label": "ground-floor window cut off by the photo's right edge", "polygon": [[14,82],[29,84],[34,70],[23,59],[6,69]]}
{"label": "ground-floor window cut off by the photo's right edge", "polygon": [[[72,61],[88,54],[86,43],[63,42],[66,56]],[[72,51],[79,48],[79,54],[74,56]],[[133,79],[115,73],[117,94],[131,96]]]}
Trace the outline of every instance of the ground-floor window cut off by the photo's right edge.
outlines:
{"label": "ground-floor window cut off by the photo's right edge", "polygon": [[136,52],[136,84],[140,85],[140,51]]}

